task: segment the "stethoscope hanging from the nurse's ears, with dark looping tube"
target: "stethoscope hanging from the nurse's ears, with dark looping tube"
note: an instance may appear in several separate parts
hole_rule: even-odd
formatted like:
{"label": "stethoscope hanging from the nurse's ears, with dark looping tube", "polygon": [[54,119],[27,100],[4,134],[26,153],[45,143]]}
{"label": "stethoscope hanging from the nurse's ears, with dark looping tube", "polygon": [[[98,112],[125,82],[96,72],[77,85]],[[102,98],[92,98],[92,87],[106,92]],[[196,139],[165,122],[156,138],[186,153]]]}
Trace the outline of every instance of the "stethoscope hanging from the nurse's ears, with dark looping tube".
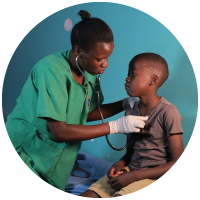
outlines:
{"label": "stethoscope hanging from the nurse's ears, with dark looping tube", "polygon": [[[80,54],[81,54],[81,53],[79,53],[79,55],[76,57],[75,61],[76,61],[76,66],[78,67],[78,69],[80,70],[80,72],[83,74],[83,72],[81,71],[80,67],[78,66],[78,57],[80,56]],[[99,76],[98,76],[98,85],[99,85],[99,90],[98,90],[98,91],[95,91],[95,90],[94,90],[93,84],[88,80],[88,78],[85,76],[85,74],[83,74],[83,76],[84,76],[84,78],[87,80],[87,82],[90,84],[90,86],[91,86],[91,88],[92,88],[92,91],[93,91],[94,93],[97,94],[97,97],[98,97],[98,109],[99,109],[99,114],[100,114],[100,116],[101,116],[102,122],[105,123],[105,122],[104,122],[103,115],[102,115],[102,113],[101,113],[101,109],[100,109],[100,98],[99,98],[99,93],[100,93],[100,91],[101,91],[100,74],[99,74]],[[96,84],[97,84],[97,83],[96,83]],[[95,84],[95,85],[96,85],[96,84]],[[130,140],[128,141],[128,143],[127,143],[124,147],[122,147],[121,149],[117,149],[117,148],[115,148],[114,146],[112,146],[112,145],[110,144],[110,142],[109,142],[109,140],[108,140],[108,136],[107,136],[107,135],[105,135],[105,136],[106,136],[106,140],[107,140],[109,146],[110,146],[112,149],[116,150],[116,151],[121,151],[121,150],[125,149],[125,148],[128,146],[128,144],[129,144],[129,142],[130,142],[130,140],[131,140],[131,138],[130,138]]]}

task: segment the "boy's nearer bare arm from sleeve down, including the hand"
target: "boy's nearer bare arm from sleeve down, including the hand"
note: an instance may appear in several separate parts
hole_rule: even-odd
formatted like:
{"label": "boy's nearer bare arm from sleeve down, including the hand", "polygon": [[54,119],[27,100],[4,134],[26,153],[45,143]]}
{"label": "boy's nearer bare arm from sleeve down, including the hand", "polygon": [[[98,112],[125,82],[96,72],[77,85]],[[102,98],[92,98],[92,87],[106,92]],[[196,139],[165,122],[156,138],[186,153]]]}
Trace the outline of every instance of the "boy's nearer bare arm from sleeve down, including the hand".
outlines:
{"label": "boy's nearer bare arm from sleeve down, including the hand", "polygon": [[109,181],[113,189],[119,190],[130,183],[142,179],[160,179],[164,176],[179,160],[184,153],[183,139],[181,134],[174,134],[168,138],[169,151],[171,161],[150,169],[142,169],[123,173],[120,176],[113,178]]}

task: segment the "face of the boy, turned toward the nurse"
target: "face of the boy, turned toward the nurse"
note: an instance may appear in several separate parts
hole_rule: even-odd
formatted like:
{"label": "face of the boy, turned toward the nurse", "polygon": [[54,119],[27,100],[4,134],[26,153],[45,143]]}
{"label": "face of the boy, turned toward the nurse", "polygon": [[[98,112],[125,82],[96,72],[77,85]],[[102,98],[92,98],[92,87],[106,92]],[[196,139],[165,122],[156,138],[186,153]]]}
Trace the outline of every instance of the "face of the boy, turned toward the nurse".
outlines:
{"label": "face of the boy, turned toward the nurse", "polygon": [[129,64],[128,77],[125,89],[131,97],[142,97],[149,93],[150,73],[147,70],[147,61],[136,60]]}

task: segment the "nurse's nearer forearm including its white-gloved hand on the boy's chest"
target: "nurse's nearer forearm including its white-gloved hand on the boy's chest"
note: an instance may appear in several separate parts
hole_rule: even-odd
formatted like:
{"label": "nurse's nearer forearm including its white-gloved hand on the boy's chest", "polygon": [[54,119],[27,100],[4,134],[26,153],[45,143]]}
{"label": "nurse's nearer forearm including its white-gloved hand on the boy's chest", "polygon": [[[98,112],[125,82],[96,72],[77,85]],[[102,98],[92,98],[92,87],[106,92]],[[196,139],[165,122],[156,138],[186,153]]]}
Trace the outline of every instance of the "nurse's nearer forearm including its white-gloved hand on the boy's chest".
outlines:
{"label": "nurse's nearer forearm including its white-gloved hand on the boy's chest", "polygon": [[49,131],[56,142],[84,141],[101,137],[107,134],[139,132],[144,128],[146,117],[123,116],[115,121],[98,125],[73,125],[66,122],[56,121],[51,118],[47,120]]}

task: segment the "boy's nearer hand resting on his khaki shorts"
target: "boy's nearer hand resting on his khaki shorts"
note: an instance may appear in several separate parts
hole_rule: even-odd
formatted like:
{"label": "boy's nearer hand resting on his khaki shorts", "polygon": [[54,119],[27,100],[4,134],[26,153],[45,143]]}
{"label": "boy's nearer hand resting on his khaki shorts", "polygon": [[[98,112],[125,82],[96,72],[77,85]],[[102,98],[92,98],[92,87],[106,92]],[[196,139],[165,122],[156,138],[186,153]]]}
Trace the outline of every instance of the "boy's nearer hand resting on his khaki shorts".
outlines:
{"label": "boy's nearer hand resting on his khaki shorts", "polygon": [[121,188],[133,183],[134,180],[130,177],[130,173],[132,172],[125,172],[118,175],[117,177],[109,179],[108,183],[110,184],[110,187],[119,191]]}

